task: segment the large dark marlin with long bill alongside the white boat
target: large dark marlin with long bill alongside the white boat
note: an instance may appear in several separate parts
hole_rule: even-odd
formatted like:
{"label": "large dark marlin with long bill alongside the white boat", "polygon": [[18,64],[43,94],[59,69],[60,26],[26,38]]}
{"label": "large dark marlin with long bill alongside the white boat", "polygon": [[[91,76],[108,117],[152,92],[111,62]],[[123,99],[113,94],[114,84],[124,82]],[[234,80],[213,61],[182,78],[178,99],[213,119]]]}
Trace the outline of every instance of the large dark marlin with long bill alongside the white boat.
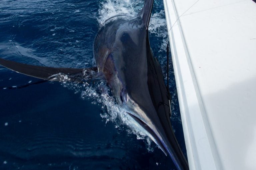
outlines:
{"label": "large dark marlin with long bill alongside the white boat", "polygon": [[154,0],[145,0],[135,17],[117,15],[98,31],[92,68],[53,68],[0,59],[0,64],[21,74],[49,81],[83,83],[104,75],[116,102],[149,134],[177,169],[188,162],[170,122],[169,90],[159,62],[153,56],[148,27]]}

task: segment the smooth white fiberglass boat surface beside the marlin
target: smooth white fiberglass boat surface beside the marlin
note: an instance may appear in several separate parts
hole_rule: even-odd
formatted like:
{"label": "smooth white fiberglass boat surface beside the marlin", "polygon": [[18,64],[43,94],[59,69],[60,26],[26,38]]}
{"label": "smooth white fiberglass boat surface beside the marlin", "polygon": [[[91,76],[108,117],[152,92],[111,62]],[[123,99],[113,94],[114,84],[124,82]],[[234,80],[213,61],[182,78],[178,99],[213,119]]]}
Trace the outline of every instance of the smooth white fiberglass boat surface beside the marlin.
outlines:
{"label": "smooth white fiberglass boat surface beside the marlin", "polygon": [[[180,71],[175,74],[180,81],[177,84],[186,86],[184,77],[191,77],[197,101],[189,102],[191,94],[185,92],[179,93],[179,100],[182,95],[188,106],[198,104],[200,107],[198,112],[208,128],[217,167],[256,169],[256,3],[252,0],[173,0],[166,4],[170,13],[169,35],[175,29],[180,33],[170,36],[173,58],[180,59],[175,59],[176,71]],[[176,18],[171,16],[171,11]],[[182,37],[180,43],[178,36]],[[182,56],[175,52],[179,46],[185,50],[190,75],[184,75],[184,63],[179,62]],[[200,139],[194,137],[198,143]],[[195,147],[200,150],[198,146]]]}

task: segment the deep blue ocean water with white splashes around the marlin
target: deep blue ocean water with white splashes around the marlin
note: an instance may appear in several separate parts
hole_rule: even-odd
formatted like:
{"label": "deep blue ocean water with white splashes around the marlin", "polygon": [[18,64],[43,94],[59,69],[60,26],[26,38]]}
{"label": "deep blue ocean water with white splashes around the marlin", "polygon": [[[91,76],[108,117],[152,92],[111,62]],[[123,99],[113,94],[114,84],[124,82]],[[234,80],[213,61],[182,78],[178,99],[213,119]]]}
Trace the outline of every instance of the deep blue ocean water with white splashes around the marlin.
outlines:
{"label": "deep blue ocean water with white splashes around the marlin", "polygon": [[[94,38],[104,21],[136,15],[142,0],[2,0],[0,57],[27,64],[95,65]],[[166,74],[163,2],[155,0],[150,43]],[[171,122],[185,143],[172,65]],[[41,82],[0,66],[0,169],[169,169],[169,156],[133,126],[104,81]]]}

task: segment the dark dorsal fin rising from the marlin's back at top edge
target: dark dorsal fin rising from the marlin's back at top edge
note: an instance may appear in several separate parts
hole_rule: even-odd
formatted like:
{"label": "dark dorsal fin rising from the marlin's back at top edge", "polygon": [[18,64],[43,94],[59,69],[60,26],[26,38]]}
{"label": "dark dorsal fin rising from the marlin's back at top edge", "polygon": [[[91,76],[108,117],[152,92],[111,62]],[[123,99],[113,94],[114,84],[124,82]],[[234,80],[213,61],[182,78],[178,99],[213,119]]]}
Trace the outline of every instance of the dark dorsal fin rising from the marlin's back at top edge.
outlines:
{"label": "dark dorsal fin rising from the marlin's back at top edge", "polygon": [[153,3],[154,3],[154,0],[144,0],[144,6],[140,12],[140,16],[147,30],[148,30],[149,20],[150,20],[152,8],[153,8]]}

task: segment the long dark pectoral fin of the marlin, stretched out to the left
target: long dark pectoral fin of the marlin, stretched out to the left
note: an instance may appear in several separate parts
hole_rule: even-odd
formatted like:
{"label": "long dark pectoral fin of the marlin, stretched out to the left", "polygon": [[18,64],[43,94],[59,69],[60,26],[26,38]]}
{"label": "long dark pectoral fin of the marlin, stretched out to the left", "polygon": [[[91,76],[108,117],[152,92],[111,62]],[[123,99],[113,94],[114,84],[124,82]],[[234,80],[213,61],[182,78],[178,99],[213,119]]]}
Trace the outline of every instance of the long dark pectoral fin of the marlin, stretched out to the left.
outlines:
{"label": "long dark pectoral fin of the marlin, stretched out to the left", "polygon": [[49,81],[69,81],[81,83],[87,79],[96,77],[98,71],[97,67],[92,68],[54,68],[43,67],[36,65],[23,64],[15,61],[5,60],[0,58],[0,65],[25,74],[31,77],[36,77]]}

